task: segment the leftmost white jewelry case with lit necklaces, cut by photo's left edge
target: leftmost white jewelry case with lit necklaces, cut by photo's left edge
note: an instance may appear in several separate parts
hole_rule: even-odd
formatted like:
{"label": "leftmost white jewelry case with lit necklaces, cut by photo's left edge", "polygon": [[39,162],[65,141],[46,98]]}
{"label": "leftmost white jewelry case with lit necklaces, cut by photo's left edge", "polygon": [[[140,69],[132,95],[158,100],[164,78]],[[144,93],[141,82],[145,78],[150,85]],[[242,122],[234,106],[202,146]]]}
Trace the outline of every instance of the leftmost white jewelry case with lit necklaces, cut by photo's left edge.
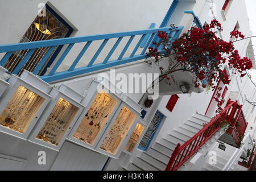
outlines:
{"label": "leftmost white jewelry case with lit necklaces, cut by photo's left edge", "polygon": [[49,84],[30,72],[12,75],[0,99],[0,131],[27,139],[43,110],[51,90]]}

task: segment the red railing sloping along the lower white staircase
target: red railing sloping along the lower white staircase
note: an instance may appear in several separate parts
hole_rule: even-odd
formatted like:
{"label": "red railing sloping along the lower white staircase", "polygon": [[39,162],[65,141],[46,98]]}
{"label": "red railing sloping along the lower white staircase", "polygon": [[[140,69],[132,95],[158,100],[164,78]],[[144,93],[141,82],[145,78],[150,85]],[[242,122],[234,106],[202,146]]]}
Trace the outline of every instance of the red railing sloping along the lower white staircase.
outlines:
{"label": "red railing sloping along the lower white staircase", "polygon": [[171,159],[166,167],[166,171],[175,171],[184,162],[188,160],[207,140],[209,140],[219,129],[224,125],[224,121],[230,123],[236,121],[234,115],[238,109],[238,113],[241,111],[241,106],[237,102],[228,101],[225,109],[221,111],[216,117],[212,119],[207,125],[203,127],[197,134],[191,139],[185,142],[183,145],[177,144]]}

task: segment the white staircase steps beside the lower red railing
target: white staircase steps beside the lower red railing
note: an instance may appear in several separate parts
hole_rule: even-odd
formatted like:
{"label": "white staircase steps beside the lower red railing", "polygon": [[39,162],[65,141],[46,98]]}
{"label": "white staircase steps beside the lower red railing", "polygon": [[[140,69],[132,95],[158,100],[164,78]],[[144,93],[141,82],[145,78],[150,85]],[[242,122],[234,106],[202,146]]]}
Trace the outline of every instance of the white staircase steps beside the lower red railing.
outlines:
{"label": "white staircase steps beside the lower red railing", "polygon": [[[151,144],[147,151],[137,155],[134,160],[130,161],[127,165],[128,167],[124,169],[129,171],[163,171],[166,169],[177,143],[183,144],[189,140],[203,128],[203,123],[208,123],[210,120],[211,118],[196,113],[171,133]],[[179,169],[184,167],[185,164]]]}

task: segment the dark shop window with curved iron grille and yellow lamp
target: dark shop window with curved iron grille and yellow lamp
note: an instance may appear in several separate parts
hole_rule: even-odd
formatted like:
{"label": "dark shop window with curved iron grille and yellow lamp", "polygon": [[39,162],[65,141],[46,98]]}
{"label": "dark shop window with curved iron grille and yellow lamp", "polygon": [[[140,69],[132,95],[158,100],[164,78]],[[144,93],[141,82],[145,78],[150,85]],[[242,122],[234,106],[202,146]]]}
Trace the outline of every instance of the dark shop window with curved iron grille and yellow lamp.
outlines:
{"label": "dark shop window with curved iron grille and yellow lamp", "polygon": [[[69,26],[59,15],[57,15],[51,7],[46,5],[44,10],[45,13],[43,15],[40,14],[36,16],[35,20],[22,36],[20,43],[67,38],[71,35],[73,28]],[[43,58],[49,48],[50,47],[37,48],[18,75],[20,75],[24,69],[29,72],[34,71],[36,65],[39,64],[39,61]],[[40,70],[39,75],[46,71],[46,68],[49,67],[61,48],[62,46],[55,48],[51,56],[49,56],[49,59],[46,61],[46,64]],[[8,69],[8,71],[13,72],[27,52],[28,50],[15,51],[10,56],[9,60],[7,60],[4,67]]]}

